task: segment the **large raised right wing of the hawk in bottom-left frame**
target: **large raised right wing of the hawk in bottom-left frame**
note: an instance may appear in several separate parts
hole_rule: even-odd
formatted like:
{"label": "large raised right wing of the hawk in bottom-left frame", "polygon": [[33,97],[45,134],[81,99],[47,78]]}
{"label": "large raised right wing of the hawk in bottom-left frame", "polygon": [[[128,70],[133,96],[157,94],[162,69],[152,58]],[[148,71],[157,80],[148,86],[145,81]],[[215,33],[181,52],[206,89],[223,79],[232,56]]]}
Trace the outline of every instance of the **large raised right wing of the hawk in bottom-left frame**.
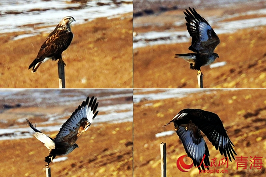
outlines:
{"label": "large raised right wing of the hawk in bottom-left frame", "polygon": [[56,143],[72,146],[77,141],[78,137],[89,128],[98,114],[98,111],[96,112],[98,107],[96,100],[92,97],[89,102],[89,97],[87,97],[86,101],[82,102],[81,106],[62,125],[54,139]]}

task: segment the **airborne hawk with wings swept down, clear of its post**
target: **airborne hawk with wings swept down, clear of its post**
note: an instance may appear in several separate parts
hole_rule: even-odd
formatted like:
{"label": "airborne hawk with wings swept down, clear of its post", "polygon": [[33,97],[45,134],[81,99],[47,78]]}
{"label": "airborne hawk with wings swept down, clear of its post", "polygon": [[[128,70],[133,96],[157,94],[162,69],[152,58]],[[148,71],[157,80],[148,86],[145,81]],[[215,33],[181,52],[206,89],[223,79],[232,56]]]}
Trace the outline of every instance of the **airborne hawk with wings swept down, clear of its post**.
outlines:
{"label": "airborne hawk with wings swept down, clear of its post", "polygon": [[[230,161],[232,161],[231,156],[235,159],[233,153],[237,154],[232,147],[233,143],[217,114],[201,109],[183,109],[166,125],[171,122],[174,123],[175,132],[183,143],[187,155],[192,158],[194,166],[197,166],[199,170],[204,154],[204,163],[206,166],[210,166],[210,153],[200,131],[207,136],[216,150],[219,148],[221,155],[228,156]],[[203,163],[201,168],[205,169]]]}

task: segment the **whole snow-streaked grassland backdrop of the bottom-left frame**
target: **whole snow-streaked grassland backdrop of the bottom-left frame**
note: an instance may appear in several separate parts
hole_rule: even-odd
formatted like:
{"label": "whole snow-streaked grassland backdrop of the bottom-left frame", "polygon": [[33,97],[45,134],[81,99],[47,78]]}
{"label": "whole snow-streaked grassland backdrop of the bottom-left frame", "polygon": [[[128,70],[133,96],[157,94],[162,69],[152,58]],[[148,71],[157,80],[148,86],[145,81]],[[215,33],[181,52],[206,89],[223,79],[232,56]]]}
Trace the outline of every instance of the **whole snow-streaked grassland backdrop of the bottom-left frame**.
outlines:
{"label": "whole snow-streaked grassland backdrop of the bottom-left frame", "polygon": [[87,96],[97,98],[99,113],[79,148],[50,164],[51,176],[132,176],[132,89],[1,89],[1,175],[44,176],[49,150],[26,118],[55,138]]}

